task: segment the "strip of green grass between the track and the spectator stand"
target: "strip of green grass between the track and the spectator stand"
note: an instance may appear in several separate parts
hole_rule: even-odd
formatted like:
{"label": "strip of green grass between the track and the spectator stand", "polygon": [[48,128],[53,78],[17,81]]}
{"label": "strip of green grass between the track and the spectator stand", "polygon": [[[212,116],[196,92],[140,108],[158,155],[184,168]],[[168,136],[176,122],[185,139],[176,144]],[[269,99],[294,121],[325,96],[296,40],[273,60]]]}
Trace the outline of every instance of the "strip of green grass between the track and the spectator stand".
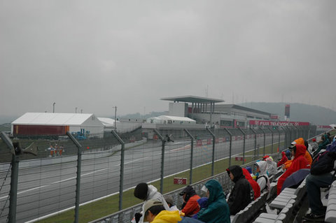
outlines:
{"label": "strip of green grass between the track and the spectator stand", "polygon": [[[283,142],[280,143],[280,147],[283,146]],[[275,149],[274,149],[275,148]],[[274,143],[273,145],[273,152],[276,152],[278,148],[278,143]],[[265,147],[265,154],[270,154],[272,150],[271,145],[267,145]],[[241,156],[242,154],[239,154],[238,156]],[[251,161],[254,161],[256,159],[260,159],[263,156],[263,148],[260,149],[259,157],[256,157],[254,159],[254,151],[246,152],[246,157],[244,163],[247,164]],[[242,161],[236,161],[235,157],[231,159],[231,165],[241,165],[243,164]],[[223,173],[225,172],[225,169],[229,166],[229,159],[222,159],[215,162],[214,165],[214,174]],[[204,166],[200,166],[193,169],[193,182],[198,182],[200,180],[204,180],[206,178],[211,177],[211,164],[207,164]],[[174,178],[187,178],[190,177],[190,171],[185,171],[183,173],[179,173],[173,176],[170,176],[168,178],[164,179],[163,182],[163,193],[172,192],[175,189],[179,189],[181,187],[184,187],[184,185],[174,185],[173,180]],[[190,182],[188,182],[190,183]],[[160,180],[152,182],[151,185],[160,188]],[[128,208],[130,206],[134,206],[137,203],[141,203],[139,199],[135,199],[133,195],[134,189],[130,189],[127,192],[123,193],[123,208]],[[100,201],[96,201],[94,203],[87,204],[85,206],[80,206],[79,210],[79,222],[90,222],[92,220],[96,220],[100,217],[104,217],[106,215],[111,215],[111,213],[115,213],[118,211],[119,206],[119,195],[113,195],[109,198],[102,199]],[[64,213],[60,213],[58,215],[55,215],[53,217],[49,217],[45,220],[40,220],[38,222],[73,222],[74,219],[74,210],[68,210]]]}

